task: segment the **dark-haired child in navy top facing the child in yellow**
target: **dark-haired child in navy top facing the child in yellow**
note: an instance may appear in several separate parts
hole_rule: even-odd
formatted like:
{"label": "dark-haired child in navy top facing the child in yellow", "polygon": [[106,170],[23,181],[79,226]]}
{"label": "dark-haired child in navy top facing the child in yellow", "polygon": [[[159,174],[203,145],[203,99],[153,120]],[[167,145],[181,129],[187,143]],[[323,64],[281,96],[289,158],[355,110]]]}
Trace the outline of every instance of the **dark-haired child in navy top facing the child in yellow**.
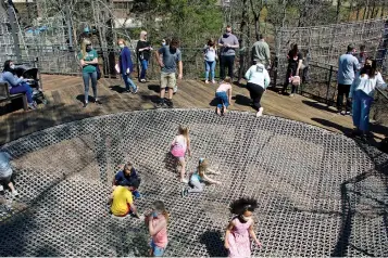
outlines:
{"label": "dark-haired child in navy top facing the child in yellow", "polygon": [[117,185],[128,185],[130,186],[130,191],[135,198],[140,198],[140,193],[137,191],[140,185],[140,181],[141,179],[138,171],[134,168],[132,163],[127,163],[125,164],[124,169],[114,176],[113,190],[115,190]]}

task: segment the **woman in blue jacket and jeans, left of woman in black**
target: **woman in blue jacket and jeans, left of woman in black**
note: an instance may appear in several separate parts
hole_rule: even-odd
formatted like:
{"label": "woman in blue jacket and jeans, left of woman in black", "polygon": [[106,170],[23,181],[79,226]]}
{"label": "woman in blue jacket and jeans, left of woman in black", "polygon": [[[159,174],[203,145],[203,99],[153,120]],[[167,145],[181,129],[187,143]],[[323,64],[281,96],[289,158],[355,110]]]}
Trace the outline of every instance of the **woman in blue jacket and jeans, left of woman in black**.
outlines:
{"label": "woman in blue jacket and jeans, left of woman in black", "polygon": [[134,72],[134,64],[130,57],[130,50],[128,47],[125,46],[124,39],[118,39],[117,44],[121,49],[120,56],[118,56],[118,70],[123,77],[125,83],[125,91],[129,93],[130,91],[136,94],[137,87],[134,81],[129,78],[132,72]]}

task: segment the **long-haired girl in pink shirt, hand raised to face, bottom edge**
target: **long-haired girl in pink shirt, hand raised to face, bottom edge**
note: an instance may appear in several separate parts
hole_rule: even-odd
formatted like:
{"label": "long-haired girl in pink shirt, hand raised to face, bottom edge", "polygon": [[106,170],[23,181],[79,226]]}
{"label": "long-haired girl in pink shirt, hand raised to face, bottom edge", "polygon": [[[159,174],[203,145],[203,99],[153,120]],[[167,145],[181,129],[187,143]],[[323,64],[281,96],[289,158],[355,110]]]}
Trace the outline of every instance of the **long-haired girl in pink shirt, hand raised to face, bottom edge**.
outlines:
{"label": "long-haired girl in pink shirt, hand raised to face, bottom edge", "polygon": [[151,250],[150,256],[161,257],[167,246],[167,222],[168,212],[165,209],[164,203],[157,201],[152,205],[152,214],[148,215],[146,222],[151,235]]}

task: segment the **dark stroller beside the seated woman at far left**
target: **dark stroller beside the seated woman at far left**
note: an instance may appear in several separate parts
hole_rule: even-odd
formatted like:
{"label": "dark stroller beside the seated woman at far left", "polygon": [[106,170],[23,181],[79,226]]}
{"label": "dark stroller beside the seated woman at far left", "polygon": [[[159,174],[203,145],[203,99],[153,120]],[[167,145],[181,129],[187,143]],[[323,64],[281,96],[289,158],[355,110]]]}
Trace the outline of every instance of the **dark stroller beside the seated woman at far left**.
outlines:
{"label": "dark stroller beside the seated woman at far left", "polygon": [[47,104],[48,101],[43,94],[40,81],[38,78],[38,68],[30,68],[27,65],[15,65],[15,73],[17,77],[22,77],[27,80],[27,83],[33,88],[33,100],[37,103]]}

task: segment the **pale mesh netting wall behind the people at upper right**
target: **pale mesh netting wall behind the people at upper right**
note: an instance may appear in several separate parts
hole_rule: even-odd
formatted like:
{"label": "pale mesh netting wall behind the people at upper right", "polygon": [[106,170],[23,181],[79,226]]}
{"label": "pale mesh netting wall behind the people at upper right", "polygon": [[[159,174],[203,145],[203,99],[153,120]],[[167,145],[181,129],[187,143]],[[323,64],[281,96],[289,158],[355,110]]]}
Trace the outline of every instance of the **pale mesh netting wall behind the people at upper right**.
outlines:
{"label": "pale mesh netting wall behind the people at upper right", "polygon": [[316,27],[279,28],[276,35],[277,73],[287,72],[287,53],[297,43],[303,56],[325,65],[338,65],[338,57],[348,44],[364,44],[366,54],[377,59],[383,73],[387,70],[388,23],[387,18],[331,24]]}

